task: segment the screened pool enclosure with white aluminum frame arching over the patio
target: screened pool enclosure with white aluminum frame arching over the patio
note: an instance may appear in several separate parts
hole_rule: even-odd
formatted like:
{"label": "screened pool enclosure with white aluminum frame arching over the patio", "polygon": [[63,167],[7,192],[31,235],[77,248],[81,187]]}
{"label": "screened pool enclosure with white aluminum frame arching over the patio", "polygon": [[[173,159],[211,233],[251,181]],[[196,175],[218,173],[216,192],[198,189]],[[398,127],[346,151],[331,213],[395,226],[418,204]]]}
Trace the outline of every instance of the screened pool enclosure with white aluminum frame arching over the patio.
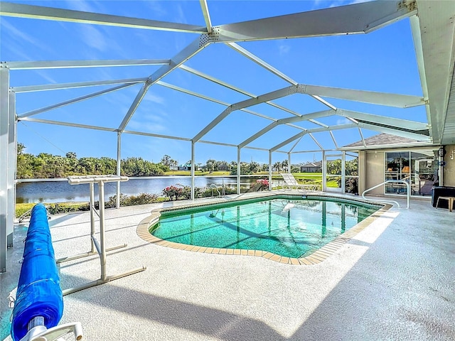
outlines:
{"label": "screened pool enclosure with white aluminum frame arching over the patio", "polygon": [[[327,162],[345,160],[342,146],[374,149],[365,144],[374,134],[415,147],[455,141],[454,1],[38,4],[0,4],[1,272],[12,245],[16,146],[31,127],[113,151],[117,175],[125,151],[175,144],[188,151],[193,188],[197,155],[207,151],[235,155],[237,184],[242,158],[263,153],[272,185],[277,155],[290,171],[301,155],[320,153],[325,176]],[[91,133],[79,139],[80,129]],[[344,166],[333,175],[356,176]]]}

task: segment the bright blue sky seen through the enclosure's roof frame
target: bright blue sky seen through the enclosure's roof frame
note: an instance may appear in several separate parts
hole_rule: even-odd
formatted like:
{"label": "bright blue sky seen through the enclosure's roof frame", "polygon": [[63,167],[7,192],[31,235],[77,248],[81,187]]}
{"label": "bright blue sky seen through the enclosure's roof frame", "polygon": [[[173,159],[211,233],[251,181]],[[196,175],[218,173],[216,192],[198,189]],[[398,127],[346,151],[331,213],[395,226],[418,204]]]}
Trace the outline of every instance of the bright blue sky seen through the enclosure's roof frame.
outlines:
{"label": "bright blue sky seen through the enclosure's roof frame", "polygon": [[[17,2],[205,26],[199,1]],[[208,0],[208,9],[212,24],[216,26],[352,3],[353,1]],[[11,17],[0,17],[0,29],[1,61],[169,59],[198,37],[195,33],[90,26]],[[239,45],[302,84],[422,95],[408,19],[368,35],[262,40]],[[185,65],[257,95],[289,86],[289,83],[224,44],[209,45]],[[13,70],[11,86],[148,77],[159,67],[152,65]],[[184,70],[176,70],[162,81],[229,104],[249,98]],[[117,128],[140,87],[141,85],[127,87],[34,117]],[[16,112],[21,114],[105,88],[107,87],[85,87],[18,94]],[[423,107],[396,109],[339,99],[327,100],[343,109],[426,122]],[[326,109],[315,99],[301,94],[274,102],[300,114]],[[225,106],[221,104],[154,85],[129,121],[127,130],[192,138],[224,109]],[[291,116],[267,104],[259,104],[249,109],[278,119]],[[345,119],[327,117],[319,121],[330,125],[343,123]],[[269,123],[270,121],[245,112],[232,112],[213,131],[203,136],[203,139],[239,144]],[[317,127],[311,122],[298,125],[309,129]],[[271,148],[298,132],[298,129],[289,126],[279,126],[250,146]],[[360,139],[357,129],[333,131],[333,134],[338,146]],[[377,133],[363,129],[363,134],[368,137]],[[324,148],[334,148],[328,133],[314,136]],[[117,134],[112,132],[21,121],[18,124],[18,141],[26,145],[26,152],[33,154],[45,152],[65,155],[68,151],[74,151],[78,157],[117,156]],[[283,149],[287,148],[289,146]],[[304,136],[295,150],[315,149],[318,147],[314,141],[309,136]],[[191,158],[191,145],[186,141],[122,135],[122,158],[141,156],[157,162],[164,154],[184,163]],[[274,153],[273,161],[282,161],[286,157],[283,153]],[[196,144],[196,162],[205,163],[208,158],[233,161],[237,158],[237,151],[232,147]],[[292,157],[292,163],[312,161],[314,158],[319,159],[321,156],[319,153],[299,153]],[[252,160],[267,163],[268,153],[242,150],[242,161]]]}

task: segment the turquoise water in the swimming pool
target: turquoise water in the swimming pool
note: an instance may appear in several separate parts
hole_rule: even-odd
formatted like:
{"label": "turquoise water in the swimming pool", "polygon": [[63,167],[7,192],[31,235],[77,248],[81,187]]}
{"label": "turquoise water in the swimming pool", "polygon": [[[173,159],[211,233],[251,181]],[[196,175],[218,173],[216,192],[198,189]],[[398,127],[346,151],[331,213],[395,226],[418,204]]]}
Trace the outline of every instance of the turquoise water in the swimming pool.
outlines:
{"label": "turquoise water in the swimming pool", "polygon": [[162,212],[150,232],[169,242],[299,258],[312,254],[379,208],[325,198],[248,200]]}

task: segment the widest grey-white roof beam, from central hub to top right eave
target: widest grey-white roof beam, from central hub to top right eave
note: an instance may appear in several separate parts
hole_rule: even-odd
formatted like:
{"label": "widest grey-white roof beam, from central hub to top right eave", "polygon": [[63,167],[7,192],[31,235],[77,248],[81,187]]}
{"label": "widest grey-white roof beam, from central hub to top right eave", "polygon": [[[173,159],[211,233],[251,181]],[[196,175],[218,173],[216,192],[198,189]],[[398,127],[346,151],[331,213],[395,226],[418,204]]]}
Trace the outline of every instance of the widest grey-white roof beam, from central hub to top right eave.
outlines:
{"label": "widest grey-white roof beam, from central hub to top right eave", "polygon": [[218,40],[233,42],[370,33],[414,14],[417,14],[414,1],[371,1],[221,25]]}

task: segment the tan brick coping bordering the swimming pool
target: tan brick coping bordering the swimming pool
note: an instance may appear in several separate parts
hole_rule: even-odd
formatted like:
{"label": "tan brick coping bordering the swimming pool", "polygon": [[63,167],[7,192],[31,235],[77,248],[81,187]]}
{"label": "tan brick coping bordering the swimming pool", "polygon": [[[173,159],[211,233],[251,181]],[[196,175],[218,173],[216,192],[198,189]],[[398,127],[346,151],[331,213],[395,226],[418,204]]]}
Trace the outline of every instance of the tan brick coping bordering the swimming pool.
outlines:
{"label": "tan brick coping bordering the swimming pool", "polygon": [[[273,198],[273,197],[329,197],[329,198],[334,198],[338,200],[346,200],[346,201],[354,201],[354,202],[362,202],[365,204],[370,204],[370,205],[380,205],[382,206],[378,211],[373,213],[373,215],[370,215],[369,217],[366,217],[364,220],[359,222],[358,224],[355,224],[353,227],[351,227],[348,231],[344,232],[343,234],[340,234],[336,239],[333,239],[331,242],[328,242],[328,244],[324,245],[321,247],[321,249],[318,249],[314,251],[314,253],[310,254],[309,256],[301,257],[301,258],[292,258],[292,257],[286,257],[286,256],[280,256],[279,254],[273,254],[272,252],[269,251],[259,251],[259,250],[248,250],[248,249],[220,249],[220,248],[215,248],[215,247],[200,247],[200,246],[195,246],[195,245],[188,245],[188,244],[180,244],[176,242],[168,242],[164,239],[160,239],[155,237],[153,234],[149,232],[149,228],[151,227],[152,224],[156,224],[156,222],[159,221],[159,218],[161,217],[161,212],[168,212],[168,211],[173,211],[173,210],[181,210],[181,209],[186,209],[186,208],[194,208],[194,207],[203,207],[203,206],[208,206],[208,205],[216,205],[220,203],[230,203],[230,202],[237,202],[237,201],[245,201],[245,200],[255,200],[255,199],[260,199],[260,198]],[[235,198],[223,198],[223,199],[216,199],[210,202],[191,202],[190,204],[183,204],[183,205],[176,205],[173,207],[159,207],[154,210],[151,210],[151,215],[149,217],[144,218],[139,222],[139,225],[137,226],[137,235],[141,238],[144,239],[144,241],[149,242],[151,244],[156,244],[160,245],[161,247],[171,247],[172,249],[180,249],[180,250],[185,250],[185,251],[193,251],[193,252],[201,252],[205,254],[232,254],[232,255],[240,255],[240,256],[259,256],[263,257],[265,259],[270,259],[272,261],[277,261],[282,264],[291,264],[291,265],[313,265],[313,264],[319,264],[321,261],[324,261],[328,259],[332,254],[335,254],[336,251],[341,249],[344,244],[350,241],[350,239],[353,239],[356,234],[358,234],[360,231],[368,227],[370,224],[372,224],[376,219],[378,219],[380,216],[382,216],[385,212],[390,210],[392,205],[390,204],[385,204],[384,202],[380,201],[367,201],[367,200],[360,200],[358,198],[346,198],[346,197],[341,197],[337,195],[329,195],[327,193],[299,193],[299,194],[289,194],[289,193],[264,193],[264,195],[261,196],[254,196],[254,197],[235,197]]]}

